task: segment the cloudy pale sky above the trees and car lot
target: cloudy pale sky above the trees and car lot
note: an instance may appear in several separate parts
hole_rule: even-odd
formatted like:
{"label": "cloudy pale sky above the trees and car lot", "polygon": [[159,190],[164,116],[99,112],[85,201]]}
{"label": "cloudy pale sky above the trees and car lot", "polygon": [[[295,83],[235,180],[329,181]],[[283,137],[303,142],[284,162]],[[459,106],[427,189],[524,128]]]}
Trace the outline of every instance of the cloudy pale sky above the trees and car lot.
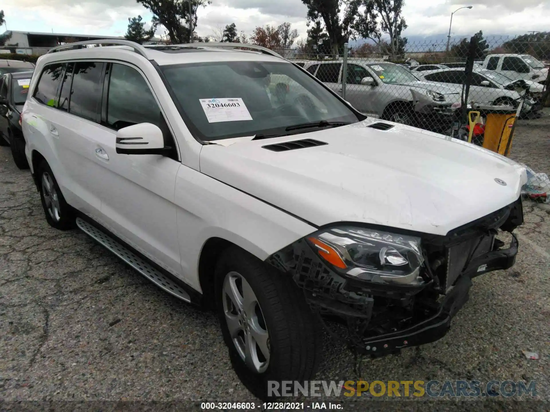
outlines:
{"label": "cloudy pale sky above the trees and car lot", "polygon": [[[550,27],[550,0],[406,0],[404,16],[409,25],[405,35],[433,35],[447,32],[453,17],[453,35],[523,34]],[[122,36],[128,17],[151,15],[135,0],[2,0],[8,30],[41,31]],[[292,23],[300,37],[306,35],[307,9],[301,0],[212,0],[199,10],[197,32],[210,35],[217,27],[235,23],[237,30],[250,34],[257,25]],[[0,28],[3,32],[5,27]],[[159,31],[161,34],[163,31]]]}

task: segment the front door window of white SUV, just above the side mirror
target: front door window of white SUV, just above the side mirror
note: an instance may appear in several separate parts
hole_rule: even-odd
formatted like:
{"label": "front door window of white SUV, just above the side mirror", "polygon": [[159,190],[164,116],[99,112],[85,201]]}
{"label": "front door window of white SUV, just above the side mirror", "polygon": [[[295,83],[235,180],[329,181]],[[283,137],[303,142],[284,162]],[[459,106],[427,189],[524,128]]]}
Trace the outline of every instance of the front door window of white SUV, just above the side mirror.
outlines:
{"label": "front door window of white SUV, just above the side mirror", "polygon": [[164,127],[160,108],[143,76],[130,66],[114,63],[107,97],[107,125],[119,130],[139,123]]}

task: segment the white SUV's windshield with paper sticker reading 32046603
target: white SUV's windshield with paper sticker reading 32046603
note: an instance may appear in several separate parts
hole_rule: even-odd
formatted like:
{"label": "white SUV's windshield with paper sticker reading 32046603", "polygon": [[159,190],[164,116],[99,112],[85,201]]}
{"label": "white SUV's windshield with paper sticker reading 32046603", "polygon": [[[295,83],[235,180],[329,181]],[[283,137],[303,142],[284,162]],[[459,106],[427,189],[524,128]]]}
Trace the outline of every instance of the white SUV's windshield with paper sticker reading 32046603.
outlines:
{"label": "white SUV's windshield with paper sticker reading 32046603", "polygon": [[180,114],[204,141],[280,134],[286,127],[321,120],[359,120],[290,63],[216,62],[161,69]]}

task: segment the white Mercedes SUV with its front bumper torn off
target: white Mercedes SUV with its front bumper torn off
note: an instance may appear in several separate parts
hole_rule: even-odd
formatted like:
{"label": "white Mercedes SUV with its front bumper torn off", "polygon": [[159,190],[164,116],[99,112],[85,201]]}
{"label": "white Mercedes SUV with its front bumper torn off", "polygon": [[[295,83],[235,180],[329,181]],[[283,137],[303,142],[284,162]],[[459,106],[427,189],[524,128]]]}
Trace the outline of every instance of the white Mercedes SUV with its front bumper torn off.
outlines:
{"label": "white Mercedes SUV with its front bumper torn off", "polygon": [[313,377],[323,328],[375,356],[436,341],[514,264],[511,160],[367,118],[260,47],[91,43],[38,59],[21,114],[46,219],[217,310],[256,396]]}

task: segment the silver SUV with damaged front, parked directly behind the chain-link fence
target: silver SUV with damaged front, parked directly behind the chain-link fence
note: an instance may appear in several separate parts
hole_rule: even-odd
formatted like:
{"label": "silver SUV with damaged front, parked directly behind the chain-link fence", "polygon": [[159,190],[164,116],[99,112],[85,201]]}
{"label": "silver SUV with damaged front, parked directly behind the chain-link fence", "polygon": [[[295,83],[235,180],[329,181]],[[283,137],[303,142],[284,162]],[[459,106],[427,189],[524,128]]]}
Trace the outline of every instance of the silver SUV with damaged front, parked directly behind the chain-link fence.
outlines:
{"label": "silver SUV with damaged front, parked directly behind the chain-link fence", "polygon": [[[460,87],[434,87],[394,63],[349,59],[347,64],[345,99],[361,113],[433,131],[447,131],[455,120]],[[311,61],[303,67],[342,95],[342,61]]]}

